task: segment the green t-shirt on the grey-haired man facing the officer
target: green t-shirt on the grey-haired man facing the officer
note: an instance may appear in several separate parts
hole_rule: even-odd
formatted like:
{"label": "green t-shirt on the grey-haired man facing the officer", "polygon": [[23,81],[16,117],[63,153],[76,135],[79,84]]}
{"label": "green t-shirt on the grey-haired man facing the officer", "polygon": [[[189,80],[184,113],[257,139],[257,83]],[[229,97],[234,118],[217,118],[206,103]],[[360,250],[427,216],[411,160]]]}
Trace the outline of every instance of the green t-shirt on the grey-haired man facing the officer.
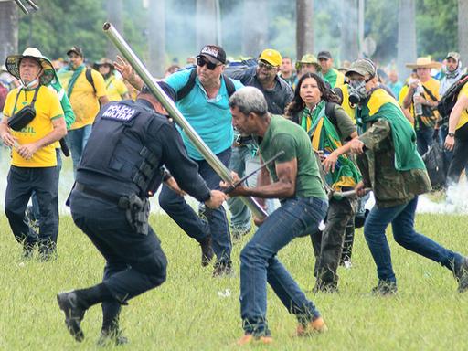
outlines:
{"label": "green t-shirt on the grey-haired man facing the officer", "polygon": [[[279,164],[297,159],[295,197],[327,198],[309,136],[301,126],[272,114],[270,126],[259,145],[259,150],[263,160],[268,160],[283,150],[284,154],[275,161]],[[274,163],[267,168],[271,179],[277,182]]]}

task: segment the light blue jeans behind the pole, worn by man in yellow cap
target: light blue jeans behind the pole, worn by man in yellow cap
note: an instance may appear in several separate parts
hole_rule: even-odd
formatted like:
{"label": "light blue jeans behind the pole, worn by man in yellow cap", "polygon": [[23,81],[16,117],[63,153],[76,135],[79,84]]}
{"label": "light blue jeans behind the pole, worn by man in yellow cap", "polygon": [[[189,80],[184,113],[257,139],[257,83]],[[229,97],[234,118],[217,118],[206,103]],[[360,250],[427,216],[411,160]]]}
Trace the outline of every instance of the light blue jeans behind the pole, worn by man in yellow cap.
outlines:
{"label": "light blue jeans behind the pole, worn by man in yellow cap", "polygon": [[[239,177],[249,175],[256,168],[261,165],[259,155],[253,155],[250,147],[239,146],[232,148],[232,154],[229,161],[229,169],[236,172]],[[257,186],[258,173],[250,176],[246,180],[247,186]],[[267,212],[270,214],[274,211],[274,201],[266,199]],[[251,227],[251,214],[250,209],[247,207],[239,197],[231,197],[228,200],[231,228],[250,229]]]}

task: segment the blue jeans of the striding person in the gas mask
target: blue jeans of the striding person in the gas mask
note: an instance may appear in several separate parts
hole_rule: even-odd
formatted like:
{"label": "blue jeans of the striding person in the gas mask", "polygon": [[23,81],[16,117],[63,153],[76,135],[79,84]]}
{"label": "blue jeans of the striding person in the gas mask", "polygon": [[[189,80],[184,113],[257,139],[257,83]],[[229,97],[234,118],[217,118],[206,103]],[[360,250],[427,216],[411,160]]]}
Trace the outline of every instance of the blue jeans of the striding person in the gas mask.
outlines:
{"label": "blue jeans of the striding person in the gas mask", "polygon": [[439,262],[451,271],[457,268],[463,260],[459,253],[445,249],[437,242],[414,230],[414,215],[417,206],[418,197],[414,197],[410,202],[399,206],[383,208],[374,206],[367,216],[364,236],[376,262],[380,281],[397,282],[391,265],[390,248],[385,236],[385,229],[390,223],[393,238],[403,248]]}

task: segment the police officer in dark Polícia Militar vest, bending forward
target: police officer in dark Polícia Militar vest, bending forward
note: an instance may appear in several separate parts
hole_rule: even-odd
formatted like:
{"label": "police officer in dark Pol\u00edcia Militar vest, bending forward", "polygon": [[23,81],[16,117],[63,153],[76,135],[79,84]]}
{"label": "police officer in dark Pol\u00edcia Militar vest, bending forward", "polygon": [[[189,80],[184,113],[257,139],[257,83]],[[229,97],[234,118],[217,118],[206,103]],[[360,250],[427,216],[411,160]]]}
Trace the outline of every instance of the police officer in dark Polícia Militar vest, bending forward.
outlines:
{"label": "police officer in dark Pol\u00edcia Militar vest, bending forward", "polygon": [[[159,83],[173,100],[174,90]],[[107,263],[103,281],[88,289],[58,293],[65,324],[77,341],[80,322],[90,306],[102,303],[100,344],[126,342],[119,333],[121,305],[165,282],[167,261],[148,226],[148,195],[164,179],[207,207],[220,207],[224,193],[209,190],[197,173],[165,109],[145,88],[137,101],[113,101],[96,117],[70,195],[75,224],[88,235]],[[165,165],[170,174],[162,172]],[[174,184],[174,182],[173,182]]]}

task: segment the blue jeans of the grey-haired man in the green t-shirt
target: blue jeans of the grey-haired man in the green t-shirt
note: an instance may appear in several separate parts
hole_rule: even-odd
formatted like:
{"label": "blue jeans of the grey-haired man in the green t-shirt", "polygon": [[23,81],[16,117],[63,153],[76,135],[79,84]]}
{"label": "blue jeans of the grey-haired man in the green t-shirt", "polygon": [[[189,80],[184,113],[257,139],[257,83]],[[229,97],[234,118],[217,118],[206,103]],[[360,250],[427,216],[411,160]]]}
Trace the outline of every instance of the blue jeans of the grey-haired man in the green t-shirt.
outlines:
{"label": "blue jeans of the grey-haired man in the green t-shirt", "polygon": [[269,335],[267,282],[300,323],[320,316],[276,254],[293,239],[318,230],[328,202],[316,197],[291,198],[265,219],[240,252],[240,314],[246,333]]}

